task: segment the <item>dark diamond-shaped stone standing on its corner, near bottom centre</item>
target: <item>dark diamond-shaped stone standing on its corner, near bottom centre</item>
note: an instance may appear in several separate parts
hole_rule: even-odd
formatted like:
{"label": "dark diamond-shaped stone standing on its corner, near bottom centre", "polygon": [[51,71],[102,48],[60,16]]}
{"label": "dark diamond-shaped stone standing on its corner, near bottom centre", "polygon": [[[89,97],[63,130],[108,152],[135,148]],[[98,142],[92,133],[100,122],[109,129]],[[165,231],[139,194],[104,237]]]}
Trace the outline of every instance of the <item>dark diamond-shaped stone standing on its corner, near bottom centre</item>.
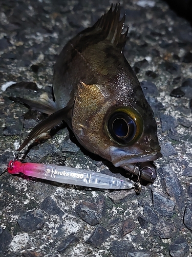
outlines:
{"label": "dark diamond-shaped stone standing on its corner, near bottom centre", "polygon": [[101,244],[111,235],[111,232],[107,231],[102,226],[98,226],[86,243],[99,248]]}

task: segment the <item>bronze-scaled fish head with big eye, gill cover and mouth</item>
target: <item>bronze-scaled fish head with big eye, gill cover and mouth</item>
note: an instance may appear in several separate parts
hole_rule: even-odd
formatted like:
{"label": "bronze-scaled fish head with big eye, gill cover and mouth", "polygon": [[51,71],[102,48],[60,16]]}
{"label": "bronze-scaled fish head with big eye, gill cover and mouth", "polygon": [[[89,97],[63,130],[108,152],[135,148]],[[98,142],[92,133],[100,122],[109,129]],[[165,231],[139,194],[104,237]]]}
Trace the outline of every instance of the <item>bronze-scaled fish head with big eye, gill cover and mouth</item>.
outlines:
{"label": "bronze-scaled fish head with big eye, gill cover and mouth", "polygon": [[140,163],[141,177],[153,181],[156,171],[151,161],[161,157],[157,124],[139,81],[134,74],[125,75],[122,78],[119,72],[104,85],[80,82],[72,129],[90,152],[137,175]]}

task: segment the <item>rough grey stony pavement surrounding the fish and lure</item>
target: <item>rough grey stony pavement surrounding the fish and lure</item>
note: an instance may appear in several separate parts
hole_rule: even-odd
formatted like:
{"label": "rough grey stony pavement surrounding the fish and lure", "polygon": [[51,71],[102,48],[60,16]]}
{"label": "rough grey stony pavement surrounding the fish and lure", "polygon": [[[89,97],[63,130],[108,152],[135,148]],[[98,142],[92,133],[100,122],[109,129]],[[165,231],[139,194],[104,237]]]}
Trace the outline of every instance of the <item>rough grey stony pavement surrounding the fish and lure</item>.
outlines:
{"label": "rough grey stony pavement surrounding the fish and lure", "polygon": [[[10,96],[51,96],[57,54],[110,5],[108,0],[0,2],[0,85],[34,83],[6,91],[3,86],[0,93],[1,256],[191,256],[192,30],[165,2],[121,1],[125,25],[130,26],[124,54],[158,125],[163,157],[155,161],[155,182],[143,183],[136,194],[6,171],[20,134],[23,141],[46,117]],[[82,149],[67,128],[57,128],[40,141],[18,157],[129,177]]]}

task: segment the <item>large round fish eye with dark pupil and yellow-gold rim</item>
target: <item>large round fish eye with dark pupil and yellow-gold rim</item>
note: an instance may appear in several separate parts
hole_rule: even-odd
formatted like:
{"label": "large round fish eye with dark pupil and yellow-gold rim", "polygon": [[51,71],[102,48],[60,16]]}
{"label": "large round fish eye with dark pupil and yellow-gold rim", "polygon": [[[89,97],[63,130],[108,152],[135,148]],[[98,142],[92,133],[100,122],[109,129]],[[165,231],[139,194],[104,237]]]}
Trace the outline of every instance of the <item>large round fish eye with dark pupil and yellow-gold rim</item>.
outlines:
{"label": "large round fish eye with dark pupil and yellow-gold rim", "polygon": [[118,144],[133,143],[143,131],[142,118],[130,107],[117,108],[109,115],[106,131],[110,138]]}

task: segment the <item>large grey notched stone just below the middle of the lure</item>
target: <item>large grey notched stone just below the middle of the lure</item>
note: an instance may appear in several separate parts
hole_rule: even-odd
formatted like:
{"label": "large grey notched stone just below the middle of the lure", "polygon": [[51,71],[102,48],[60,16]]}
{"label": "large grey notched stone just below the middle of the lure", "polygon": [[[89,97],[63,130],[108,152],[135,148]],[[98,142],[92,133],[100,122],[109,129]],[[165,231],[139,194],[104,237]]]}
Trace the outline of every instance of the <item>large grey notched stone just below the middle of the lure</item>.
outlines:
{"label": "large grey notched stone just below the middle of the lure", "polygon": [[96,203],[84,201],[75,208],[79,217],[91,226],[97,225],[105,214],[104,198],[97,198]]}

